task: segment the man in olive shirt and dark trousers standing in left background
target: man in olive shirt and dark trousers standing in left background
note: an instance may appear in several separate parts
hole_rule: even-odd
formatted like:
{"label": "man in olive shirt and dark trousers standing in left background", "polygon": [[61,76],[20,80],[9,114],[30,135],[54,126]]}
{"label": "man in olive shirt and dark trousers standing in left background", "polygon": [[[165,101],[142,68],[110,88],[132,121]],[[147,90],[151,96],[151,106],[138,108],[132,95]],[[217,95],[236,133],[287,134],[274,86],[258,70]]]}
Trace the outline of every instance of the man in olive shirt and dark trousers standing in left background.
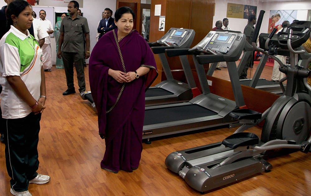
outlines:
{"label": "man in olive shirt and dark trousers standing in left background", "polygon": [[[68,13],[70,16],[62,20],[60,27],[60,36],[58,43],[58,58],[63,58],[64,68],[67,80],[67,90],[63,95],[76,93],[73,84],[73,65],[77,71],[79,92],[85,91],[85,78],[83,56],[90,57],[90,30],[85,17],[79,16],[77,10],[79,3],[70,1],[68,4]],[[85,40],[85,50],[84,42]],[[85,51],[85,52],[84,52]]]}

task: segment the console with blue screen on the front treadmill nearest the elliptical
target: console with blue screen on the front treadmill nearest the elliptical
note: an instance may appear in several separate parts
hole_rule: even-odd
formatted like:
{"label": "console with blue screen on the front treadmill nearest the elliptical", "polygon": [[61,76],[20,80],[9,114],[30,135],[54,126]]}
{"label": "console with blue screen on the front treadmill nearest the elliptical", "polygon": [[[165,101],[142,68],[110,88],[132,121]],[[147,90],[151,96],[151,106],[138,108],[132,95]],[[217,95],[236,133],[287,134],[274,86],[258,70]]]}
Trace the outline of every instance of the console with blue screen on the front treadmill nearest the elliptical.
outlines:
{"label": "console with blue screen on the front treadmill nearest the elliptical", "polygon": [[202,47],[202,50],[211,49],[219,54],[227,54],[234,41],[240,41],[242,37],[243,34],[236,31],[210,31],[194,48]]}

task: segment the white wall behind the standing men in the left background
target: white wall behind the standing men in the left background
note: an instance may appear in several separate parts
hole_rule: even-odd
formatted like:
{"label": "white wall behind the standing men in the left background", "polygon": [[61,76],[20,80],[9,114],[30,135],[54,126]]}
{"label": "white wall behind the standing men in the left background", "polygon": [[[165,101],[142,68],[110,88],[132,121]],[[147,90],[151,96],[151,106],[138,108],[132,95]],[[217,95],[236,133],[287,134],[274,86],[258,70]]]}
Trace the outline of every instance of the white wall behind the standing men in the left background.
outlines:
{"label": "white wall behind the standing men in the left background", "polygon": [[[5,5],[6,3],[3,0],[0,0],[0,7]],[[83,5],[84,6],[81,7],[80,9],[83,12],[83,16],[87,18],[87,22],[90,29],[90,41],[91,41],[90,49],[92,51],[93,47],[96,44],[97,25],[98,22],[101,20],[101,13],[104,11],[106,7],[109,7],[113,12],[115,12],[116,0],[84,0]],[[54,7],[54,12],[67,12],[67,7]],[[39,17],[38,13],[37,17]],[[51,38],[51,47],[52,47],[52,63],[53,65],[55,65],[56,62],[55,38]],[[88,63],[88,59],[86,59],[86,63]]]}

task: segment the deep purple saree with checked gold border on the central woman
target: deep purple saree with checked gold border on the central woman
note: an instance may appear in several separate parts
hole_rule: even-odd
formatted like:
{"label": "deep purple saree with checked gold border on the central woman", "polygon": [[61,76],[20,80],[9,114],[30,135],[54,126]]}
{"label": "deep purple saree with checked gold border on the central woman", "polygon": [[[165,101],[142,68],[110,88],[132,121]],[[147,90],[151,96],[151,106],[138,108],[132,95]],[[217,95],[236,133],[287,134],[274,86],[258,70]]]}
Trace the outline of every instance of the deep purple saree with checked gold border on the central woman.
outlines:
{"label": "deep purple saree with checked gold border on the central woman", "polygon": [[[118,29],[109,31],[95,45],[89,62],[92,96],[98,111],[99,133],[106,150],[100,166],[117,173],[137,169],[142,152],[145,91],[156,79],[156,62],[149,45],[136,30],[118,40]],[[150,71],[129,83],[108,76],[109,68]]]}

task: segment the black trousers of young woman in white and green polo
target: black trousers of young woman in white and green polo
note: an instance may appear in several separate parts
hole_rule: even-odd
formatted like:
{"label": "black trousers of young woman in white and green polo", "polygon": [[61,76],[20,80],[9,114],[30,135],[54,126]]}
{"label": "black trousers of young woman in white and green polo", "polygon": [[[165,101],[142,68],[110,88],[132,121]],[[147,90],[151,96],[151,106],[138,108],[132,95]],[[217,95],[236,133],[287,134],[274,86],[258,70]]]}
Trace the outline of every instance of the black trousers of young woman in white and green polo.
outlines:
{"label": "black trousers of young woman in white and green polo", "polygon": [[41,113],[30,113],[21,119],[4,119],[5,159],[11,188],[28,190],[29,180],[37,176],[38,141]]}

